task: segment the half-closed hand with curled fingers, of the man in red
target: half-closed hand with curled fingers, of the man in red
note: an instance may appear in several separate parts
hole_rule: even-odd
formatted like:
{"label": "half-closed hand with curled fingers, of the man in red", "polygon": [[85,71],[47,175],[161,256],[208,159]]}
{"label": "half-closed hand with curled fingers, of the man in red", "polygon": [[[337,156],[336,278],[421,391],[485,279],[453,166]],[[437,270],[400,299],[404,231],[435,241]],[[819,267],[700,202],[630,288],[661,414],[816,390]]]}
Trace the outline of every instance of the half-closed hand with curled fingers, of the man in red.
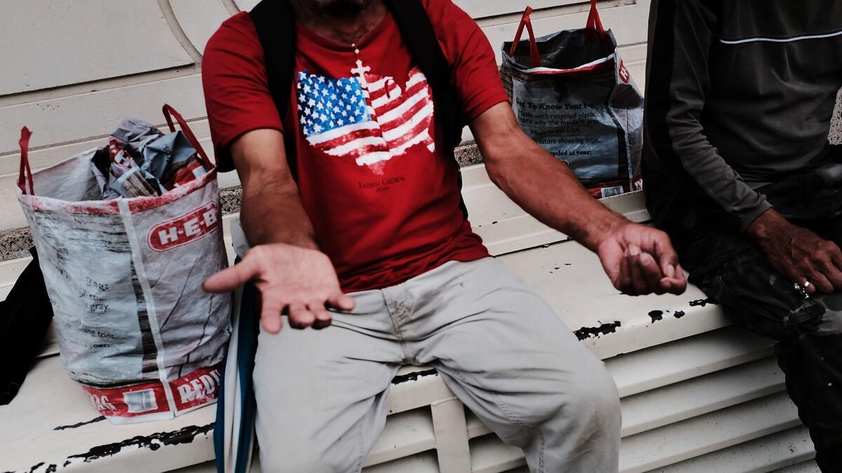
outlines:
{"label": "half-closed hand with curled fingers, of the man in red", "polygon": [[681,294],[687,289],[669,237],[663,231],[622,221],[597,248],[605,274],[627,295]]}

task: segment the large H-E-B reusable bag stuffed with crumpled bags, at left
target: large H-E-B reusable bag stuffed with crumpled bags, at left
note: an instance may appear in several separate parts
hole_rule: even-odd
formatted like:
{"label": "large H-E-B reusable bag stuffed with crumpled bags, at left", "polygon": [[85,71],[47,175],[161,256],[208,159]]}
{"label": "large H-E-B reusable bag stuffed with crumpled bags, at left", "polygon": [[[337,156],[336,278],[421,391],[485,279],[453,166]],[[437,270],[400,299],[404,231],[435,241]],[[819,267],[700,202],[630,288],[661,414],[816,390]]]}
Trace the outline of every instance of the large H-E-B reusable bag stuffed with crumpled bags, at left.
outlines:
{"label": "large H-E-B reusable bag stuffed with crumpled bags, at left", "polygon": [[31,173],[29,130],[20,140],[17,194],[61,361],[112,423],[172,418],[214,402],[231,332],[232,296],[201,290],[227,266],[216,167],[181,115],[169,105],[163,111],[173,132],[171,115],[178,120],[202,167],[163,194],[103,199],[103,176],[93,171],[102,149]]}

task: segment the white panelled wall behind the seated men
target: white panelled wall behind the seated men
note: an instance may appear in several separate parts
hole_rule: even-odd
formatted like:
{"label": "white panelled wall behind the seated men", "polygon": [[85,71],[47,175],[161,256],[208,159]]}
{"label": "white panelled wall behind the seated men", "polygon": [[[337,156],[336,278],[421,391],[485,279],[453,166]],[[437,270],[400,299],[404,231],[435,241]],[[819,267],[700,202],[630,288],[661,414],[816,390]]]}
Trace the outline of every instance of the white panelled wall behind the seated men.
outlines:
{"label": "white panelled wall behind the seated men", "polygon": [[[495,50],[511,40],[527,3],[537,35],[581,28],[583,0],[455,0]],[[209,141],[201,51],[229,15],[258,0],[26,0],[0,6],[0,231],[26,226],[14,195],[19,130],[29,126],[33,167],[100,146],[126,116],[163,122],[166,102]],[[642,87],[649,0],[600,2]],[[499,55],[499,52],[498,52]],[[209,146],[210,147],[210,146]],[[208,151],[211,151],[208,149]],[[237,184],[233,173],[222,186]]]}

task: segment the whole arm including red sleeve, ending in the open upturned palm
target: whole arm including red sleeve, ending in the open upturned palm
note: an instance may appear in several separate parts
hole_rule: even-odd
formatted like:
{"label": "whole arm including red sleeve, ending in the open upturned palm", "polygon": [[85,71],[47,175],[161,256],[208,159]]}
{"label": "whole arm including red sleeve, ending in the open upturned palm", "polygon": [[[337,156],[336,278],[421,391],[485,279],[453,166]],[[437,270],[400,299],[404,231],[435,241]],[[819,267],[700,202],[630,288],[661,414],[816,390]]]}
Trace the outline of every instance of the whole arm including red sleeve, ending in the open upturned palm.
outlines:
{"label": "whole arm including red sleeve, ending in the open upturned palm", "polygon": [[269,93],[263,49],[248,15],[226,20],[208,40],[202,82],[216,160],[237,168],[243,230],[252,247],[240,263],[203,284],[228,292],[248,282],[260,291],[260,322],[278,332],[330,325],[328,308],[348,311],[354,299],[339,288],[336,270],[318,251],[313,227],[286,164],[283,124]]}

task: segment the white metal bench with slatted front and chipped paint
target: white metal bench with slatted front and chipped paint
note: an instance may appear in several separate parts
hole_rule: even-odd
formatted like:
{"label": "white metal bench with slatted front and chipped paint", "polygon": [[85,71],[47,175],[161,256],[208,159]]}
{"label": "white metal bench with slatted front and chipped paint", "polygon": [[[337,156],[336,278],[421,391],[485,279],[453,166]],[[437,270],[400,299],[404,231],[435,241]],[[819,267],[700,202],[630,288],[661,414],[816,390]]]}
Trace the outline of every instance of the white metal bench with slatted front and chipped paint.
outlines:
{"label": "white metal bench with slatted front and chipped paint", "polygon": [[[525,215],[482,166],[463,173],[472,224],[490,251],[552,304],[616,380],[621,471],[818,471],[770,341],[729,327],[696,288],[618,294],[593,254]],[[605,204],[648,218],[640,194]],[[26,263],[0,263],[0,296]],[[213,407],[166,422],[88,423],[98,413],[56,353],[51,338],[18,397],[0,407],[0,471],[213,471]],[[526,471],[520,450],[466,412],[433,369],[406,367],[393,383],[366,473]]]}

